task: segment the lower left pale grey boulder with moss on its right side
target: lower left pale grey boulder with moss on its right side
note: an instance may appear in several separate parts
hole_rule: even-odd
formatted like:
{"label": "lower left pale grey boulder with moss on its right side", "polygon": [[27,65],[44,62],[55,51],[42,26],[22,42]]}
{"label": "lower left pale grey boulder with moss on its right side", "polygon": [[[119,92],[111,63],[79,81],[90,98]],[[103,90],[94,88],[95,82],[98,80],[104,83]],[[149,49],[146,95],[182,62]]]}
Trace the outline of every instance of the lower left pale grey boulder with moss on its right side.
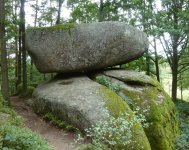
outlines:
{"label": "lower left pale grey boulder with moss on its right side", "polygon": [[[39,113],[51,112],[58,118],[79,128],[82,132],[98,123],[103,110],[118,117],[128,106],[116,93],[83,74],[59,74],[38,86],[33,93],[33,108]],[[129,109],[129,114],[133,112]],[[127,120],[131,117],[125,116]],[[138,122],[133,122],[132,142],[128,147],[151,150],[149,141]],[[122,133],[126,134],[126,131]],[[123,145],[120,145],[124,149]]]}

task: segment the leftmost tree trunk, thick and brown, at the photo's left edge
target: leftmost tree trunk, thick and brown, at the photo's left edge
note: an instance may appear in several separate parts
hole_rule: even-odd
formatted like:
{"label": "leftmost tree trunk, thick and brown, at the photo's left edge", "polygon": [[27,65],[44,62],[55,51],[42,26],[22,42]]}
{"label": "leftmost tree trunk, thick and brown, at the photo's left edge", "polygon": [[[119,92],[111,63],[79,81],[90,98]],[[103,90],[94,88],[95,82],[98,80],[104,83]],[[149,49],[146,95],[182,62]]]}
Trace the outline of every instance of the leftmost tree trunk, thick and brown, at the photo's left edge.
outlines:
{"label": "leftmost tree trunk, thick and brown, at the photo's left edge", "polygon": [[0,48],[1,48],[1,72],[2,72],[2,95],[10,105],[8,67],[5,36],[5,5],[4,0],[0,1]]}

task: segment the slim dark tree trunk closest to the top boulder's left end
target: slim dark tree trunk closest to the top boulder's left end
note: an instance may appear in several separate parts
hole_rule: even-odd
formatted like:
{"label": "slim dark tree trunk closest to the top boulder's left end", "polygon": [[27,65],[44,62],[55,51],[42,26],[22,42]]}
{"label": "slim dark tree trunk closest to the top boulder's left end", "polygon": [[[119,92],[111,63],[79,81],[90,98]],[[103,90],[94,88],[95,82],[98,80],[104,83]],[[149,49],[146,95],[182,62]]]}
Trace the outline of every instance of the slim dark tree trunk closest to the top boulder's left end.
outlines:
{"label": "slim dark tree trunk closest to the top boulder's left end", "polygon": [[[24,11],[25,0],[21,0],[21,17],[25,21]],[[21,25],[22,30],[22,61],[23,61],[23,96],[27,96],[27,70],[26,70],[26,49],[25,49],[25,22]]]}

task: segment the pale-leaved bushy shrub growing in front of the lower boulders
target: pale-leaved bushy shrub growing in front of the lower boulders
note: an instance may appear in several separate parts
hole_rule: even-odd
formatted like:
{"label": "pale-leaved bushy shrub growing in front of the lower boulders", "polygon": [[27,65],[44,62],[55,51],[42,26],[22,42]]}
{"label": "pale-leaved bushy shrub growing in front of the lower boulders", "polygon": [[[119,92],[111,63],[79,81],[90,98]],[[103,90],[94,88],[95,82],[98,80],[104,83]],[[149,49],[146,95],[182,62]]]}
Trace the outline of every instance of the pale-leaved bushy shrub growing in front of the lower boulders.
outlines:
{"label": "pale-leaved bushy shrub growing in front of the lower boulders", "polygon": [[[130,114],[129,108],[127,107],[124,114],[120,113],[118,118],[114,118],[106,108],[103,112],[103,118],[95,126],[92,126],[92,128],[85,129],[87,136],[92,138],[94,144],[92,148],[85,147],[98,150],[116,150],[123,147],[128,148],[129,144],[136,143],[136,141],[132,140],[132,134],[137,131],[133,131],[132,127],[136,124],[141,125],[140,123],[143,124],[141,125],[143,128],[148,127],[148,123],[145,122],[145,117],[143,115],[136,115],[138,112],[139,108],[135,109],[134,114]],[[78,139],[74,139],[75,144],[81,140],[84,140],[84,138],[78,135]],[[71,143],[70,146],[74,147],[75,145]],[[144,148],[141,147],[141,149]]]}

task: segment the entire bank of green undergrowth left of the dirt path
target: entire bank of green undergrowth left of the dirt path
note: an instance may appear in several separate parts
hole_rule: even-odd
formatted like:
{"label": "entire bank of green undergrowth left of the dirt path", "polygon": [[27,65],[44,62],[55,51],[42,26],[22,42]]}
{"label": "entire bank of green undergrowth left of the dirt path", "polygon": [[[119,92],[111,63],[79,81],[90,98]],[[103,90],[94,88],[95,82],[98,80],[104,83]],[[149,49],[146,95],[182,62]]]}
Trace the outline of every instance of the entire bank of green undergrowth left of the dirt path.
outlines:
{"label": "entire bank of green undergrowth left of the dirt path", "polygon": [[2,150],[53,150],[29,128],[22,127],[23,119],[8,106],[2,104],[0,97],[0,112],[10,114],[7,121],[0,121],[0,149]]}

